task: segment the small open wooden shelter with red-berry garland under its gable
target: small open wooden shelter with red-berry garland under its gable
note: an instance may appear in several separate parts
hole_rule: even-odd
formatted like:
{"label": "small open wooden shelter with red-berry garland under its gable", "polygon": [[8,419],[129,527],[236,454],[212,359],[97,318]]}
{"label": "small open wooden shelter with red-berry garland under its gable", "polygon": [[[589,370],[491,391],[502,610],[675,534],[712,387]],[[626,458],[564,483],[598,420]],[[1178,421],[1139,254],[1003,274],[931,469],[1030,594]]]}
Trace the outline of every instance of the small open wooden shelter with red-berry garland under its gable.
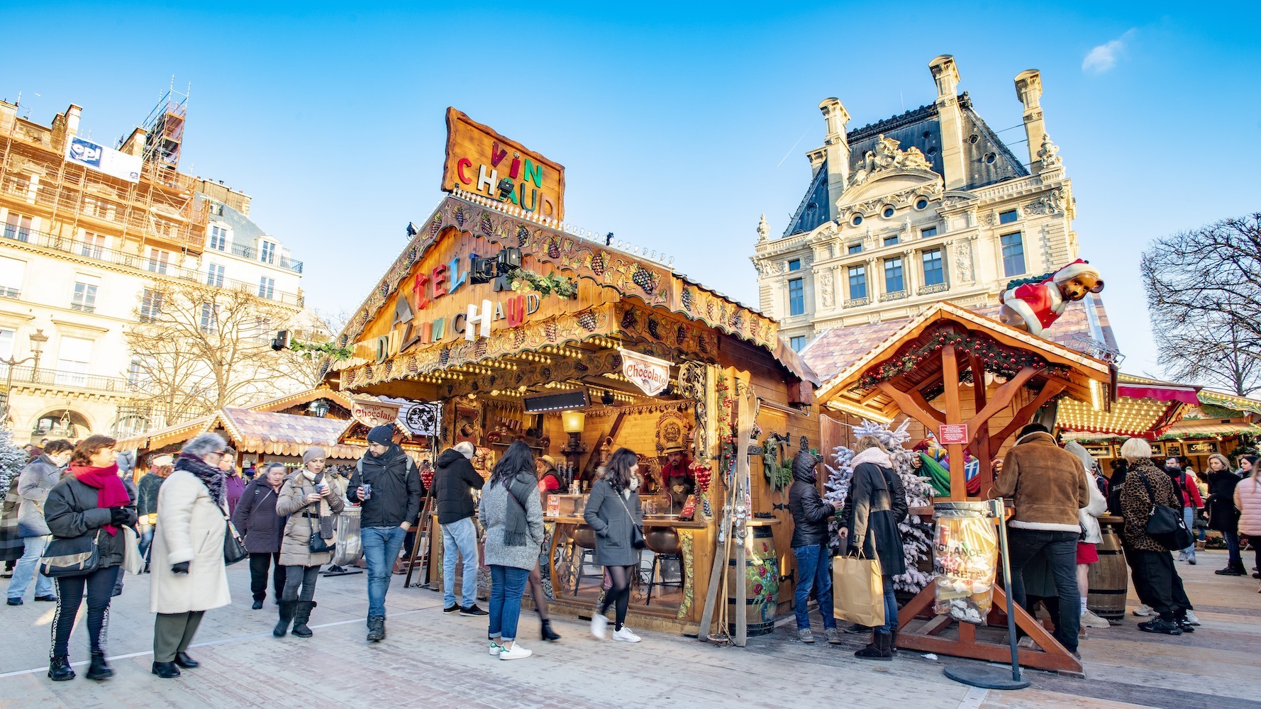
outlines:
{"label": "small open wooden shelter with red-berry garland under its gable", "polygon": [[[1115,399],[1115,370],[1101,360],[937,303],[825,384],[818,401],[846,416],[915,419],[946,444],[948,500],[963,501],[968,500],[965,448],[981,460],[1001,457],[1014,434],[1052,402],[1086,402],[1106,411]],[[985,497],[992,483],[989,466],[981,466],[980,476]],[[1001,607],[1001,589],[994,593],[995,607]],[[932,613],[932,602],[929,584],[903,607],[900,647],[990,661],[1009,657],[1005,632],[999,637],[971,623],[953,623],[948,616],[919,618],[926,611]],[[1081,672],[1081,661],[1019,607],[1016,622],[1040,648],[1020,648],[1021,664]]]}

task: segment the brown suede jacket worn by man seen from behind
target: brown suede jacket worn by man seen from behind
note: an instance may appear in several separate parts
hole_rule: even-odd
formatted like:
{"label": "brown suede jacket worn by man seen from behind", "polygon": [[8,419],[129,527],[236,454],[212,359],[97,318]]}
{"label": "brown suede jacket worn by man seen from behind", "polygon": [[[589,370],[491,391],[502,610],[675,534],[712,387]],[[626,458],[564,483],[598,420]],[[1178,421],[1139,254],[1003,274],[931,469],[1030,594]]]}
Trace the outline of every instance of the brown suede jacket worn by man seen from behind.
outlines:
{"label": "brown suede jacket worn by man seen from behind", "polygon": [[996,497],[1011,497],[1014,529],[1081,531],[1077,511],[1091,502],[1086,468],[1072,453],[1055,445],[1049,433],[1031,433],[1016,439],[1002,459],[1002,473],[994,483]]}

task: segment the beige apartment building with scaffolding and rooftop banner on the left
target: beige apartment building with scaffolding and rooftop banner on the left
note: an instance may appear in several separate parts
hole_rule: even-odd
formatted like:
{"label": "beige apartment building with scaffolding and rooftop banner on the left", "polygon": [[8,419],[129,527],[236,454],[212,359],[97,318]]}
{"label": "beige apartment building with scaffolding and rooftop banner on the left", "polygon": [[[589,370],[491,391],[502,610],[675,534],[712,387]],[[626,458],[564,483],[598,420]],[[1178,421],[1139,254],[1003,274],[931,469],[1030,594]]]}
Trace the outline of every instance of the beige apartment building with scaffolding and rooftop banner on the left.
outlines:
{"label": "beige apartment building with scaffolding and rooftop banner on the left", "polygon": [[45,126],[0,102],[0,385],[19,443],[174,423],[155,420],[125,338],[161,309],[155,284],[303,309],[303,264],[250,221],[250,197],[178,170],[178,95],[116,150],[79,120],[74,105]]}

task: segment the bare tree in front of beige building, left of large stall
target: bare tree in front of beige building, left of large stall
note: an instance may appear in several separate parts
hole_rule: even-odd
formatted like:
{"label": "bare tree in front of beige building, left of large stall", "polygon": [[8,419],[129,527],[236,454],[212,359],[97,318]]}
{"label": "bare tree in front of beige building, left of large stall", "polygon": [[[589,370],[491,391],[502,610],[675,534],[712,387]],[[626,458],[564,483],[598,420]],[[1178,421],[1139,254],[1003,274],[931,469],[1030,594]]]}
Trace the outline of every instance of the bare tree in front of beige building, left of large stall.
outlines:
{"label": "bare tree in front of beige building, left of large stall", "polygon": [[150,284],[126,339],[131,376],[158,414],[151,423],[170,425],[308,386],[310,363],[271,348],[275,331],[291,328],[296,315],[247,288]]}

